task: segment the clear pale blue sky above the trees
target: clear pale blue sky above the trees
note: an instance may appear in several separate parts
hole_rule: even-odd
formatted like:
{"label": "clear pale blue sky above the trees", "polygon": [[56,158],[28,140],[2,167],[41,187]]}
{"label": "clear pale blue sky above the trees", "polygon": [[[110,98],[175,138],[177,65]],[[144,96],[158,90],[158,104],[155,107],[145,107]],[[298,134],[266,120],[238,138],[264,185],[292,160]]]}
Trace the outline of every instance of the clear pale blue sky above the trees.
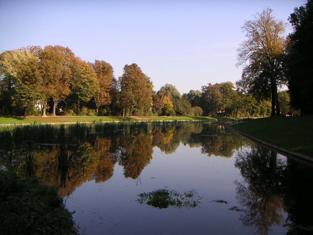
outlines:
{"label": "clear pale blue sky above the trees", "polygon": [[[136,63],[154,90],[180,93],[240,79],[240,27],[263,7],[287,18],[303,0],[14,1],[0,0],[0,53],[62,45],[86,61],[105,60],[115,77]],[[291,27],[288,29],[291,30]]]}

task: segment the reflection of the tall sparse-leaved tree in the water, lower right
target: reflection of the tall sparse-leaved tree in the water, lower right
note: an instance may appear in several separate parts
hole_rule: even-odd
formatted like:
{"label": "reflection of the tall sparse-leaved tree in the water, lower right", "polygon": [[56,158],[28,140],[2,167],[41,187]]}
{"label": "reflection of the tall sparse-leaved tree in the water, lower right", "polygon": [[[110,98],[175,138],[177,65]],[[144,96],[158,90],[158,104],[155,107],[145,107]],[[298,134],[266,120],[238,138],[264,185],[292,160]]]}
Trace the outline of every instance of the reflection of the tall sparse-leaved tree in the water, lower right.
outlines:
{"label": "reflection of the tall sparse-leaved tree in the water, lower right", "polygon": [[235,167],[244,178],[243,183],[235,182],[236,198],[245,208],[241,221],[254,227],[257,234],[269,234],[272,226],[284,221],[281,195],[284,162],[275,151],[259,147],[239,153]]}

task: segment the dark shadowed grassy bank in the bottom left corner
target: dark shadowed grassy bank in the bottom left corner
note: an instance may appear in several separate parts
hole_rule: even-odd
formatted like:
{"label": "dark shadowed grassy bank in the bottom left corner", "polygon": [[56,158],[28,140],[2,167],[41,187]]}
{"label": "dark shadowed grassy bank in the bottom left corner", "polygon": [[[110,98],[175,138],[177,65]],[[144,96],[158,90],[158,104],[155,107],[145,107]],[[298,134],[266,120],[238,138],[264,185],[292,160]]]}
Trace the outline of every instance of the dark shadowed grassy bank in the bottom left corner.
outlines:
{"label": "dark shadowed grassy bank in the bottom left corner", "polygon": [[54,188],[0,170],[1,234],[77,234]]}

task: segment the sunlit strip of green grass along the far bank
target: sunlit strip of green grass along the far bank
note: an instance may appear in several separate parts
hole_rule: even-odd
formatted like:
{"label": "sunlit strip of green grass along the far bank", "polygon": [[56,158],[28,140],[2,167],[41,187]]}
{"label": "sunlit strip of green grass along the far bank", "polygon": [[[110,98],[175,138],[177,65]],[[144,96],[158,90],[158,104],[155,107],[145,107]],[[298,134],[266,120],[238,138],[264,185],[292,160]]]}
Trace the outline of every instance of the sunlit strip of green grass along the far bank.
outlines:
{"label": "sunlit strip of green grass along the far bank", "polygon": [[29,116],[23,120],[23,117],[0,117],[0,124],[21,124],[21,123],[76,123],[76,122],[113,122],[113,121],[164,121],[164,120],[215,120],[209,117],[99,117],[99,116]]}

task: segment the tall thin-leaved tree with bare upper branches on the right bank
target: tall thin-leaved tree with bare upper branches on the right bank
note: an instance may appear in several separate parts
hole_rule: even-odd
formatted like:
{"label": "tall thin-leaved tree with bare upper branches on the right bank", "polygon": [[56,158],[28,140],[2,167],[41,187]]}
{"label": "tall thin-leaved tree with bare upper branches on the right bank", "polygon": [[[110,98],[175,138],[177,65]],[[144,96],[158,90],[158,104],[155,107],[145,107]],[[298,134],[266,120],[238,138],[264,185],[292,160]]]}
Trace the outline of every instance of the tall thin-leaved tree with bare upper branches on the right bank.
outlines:
{"label": "tall thin-leaved tree with bare upper branches on the right bank", "polygon": [[261,13],[254,15],[253,20],[246,21],[242,27],[248,38],[238,48],[238,65],[246,62],[248,66],[261,66],[269,71],[272,94],[271,115],[280,115],[277,95],[277,73],[282,66],[285,53],[286,24],[273,16],[271,8],[264,8]]}

